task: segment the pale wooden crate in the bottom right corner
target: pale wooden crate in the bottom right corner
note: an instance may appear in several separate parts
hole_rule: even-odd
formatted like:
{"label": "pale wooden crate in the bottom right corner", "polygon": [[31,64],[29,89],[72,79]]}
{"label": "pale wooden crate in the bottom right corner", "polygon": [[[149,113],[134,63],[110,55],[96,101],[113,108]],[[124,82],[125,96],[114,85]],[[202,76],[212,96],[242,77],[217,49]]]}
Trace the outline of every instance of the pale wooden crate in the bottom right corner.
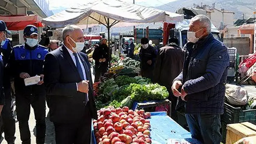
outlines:
{"label": "pale wooden crate in the bottom right corner", "polygon": [[256,135],[256,126],[249,122],[227,125],[226,144],[234,144],[236,141]]}

